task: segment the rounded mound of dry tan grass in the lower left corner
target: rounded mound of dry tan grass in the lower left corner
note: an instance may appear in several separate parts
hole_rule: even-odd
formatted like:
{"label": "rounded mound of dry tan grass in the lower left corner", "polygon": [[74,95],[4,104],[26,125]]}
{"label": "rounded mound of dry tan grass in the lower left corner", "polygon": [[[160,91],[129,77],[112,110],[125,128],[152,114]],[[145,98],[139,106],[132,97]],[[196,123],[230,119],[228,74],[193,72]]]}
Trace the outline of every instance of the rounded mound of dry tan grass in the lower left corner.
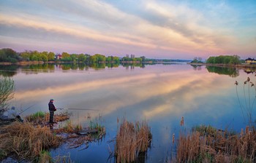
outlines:
{"label": "rounded mound of dry tan grass in the lower left corner", "polygon": [[1,127],[0,148],[6,154],[14,153],[22,159],[34,160],[42,150],[59,146],[60,143],[61,138],[53,135],[48,127],[34,127],[19,122]]}

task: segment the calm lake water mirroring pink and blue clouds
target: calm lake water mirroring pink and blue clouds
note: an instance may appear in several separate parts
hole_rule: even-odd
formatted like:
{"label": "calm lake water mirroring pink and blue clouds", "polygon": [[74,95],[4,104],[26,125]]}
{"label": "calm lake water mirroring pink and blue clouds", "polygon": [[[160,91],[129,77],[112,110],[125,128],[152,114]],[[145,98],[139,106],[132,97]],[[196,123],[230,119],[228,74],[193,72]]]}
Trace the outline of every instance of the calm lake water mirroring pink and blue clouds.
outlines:
{"label": "calm lake water mirroring pink and blue clouds", "polygon": [[[120,65],[112,68],[105,65],[101,68],[34,65],[21,68],[1,66],[0,69],[1,76],[12,76],[15,81],[12,105],[22,110],[35,104],[22,116],[48,111],[50,98],[55,100],[57,108],[99,110],[68,110],[72,123],[86,127],[90,115],[91,120],[105,126],[107,132],[102,141],[90,143],[85,150],[61,146],[51,151],[53,156],[70,154],[75,162],[113,162],[108,156],[114,150],[114,142],[109,141],[116,137],[117,119],[119,122],[123,118],[130,122],[148,122],[153,140],[146,162],[164,162],[170,157],[171,138],[173,133],[178,137],[182,116],[185,122],[182,130],[211,124],[221,130],[240,131],[246,124],[234,83],[239,82],[239,97],[241,104],[245,105],[243,83],[248,76],[256,81],[255,73],[245,73],[244,70],[194,68],[187,64]],[[253,99],[255,91],[252,90]],[[255,110],[253,119],[256,119]]]}

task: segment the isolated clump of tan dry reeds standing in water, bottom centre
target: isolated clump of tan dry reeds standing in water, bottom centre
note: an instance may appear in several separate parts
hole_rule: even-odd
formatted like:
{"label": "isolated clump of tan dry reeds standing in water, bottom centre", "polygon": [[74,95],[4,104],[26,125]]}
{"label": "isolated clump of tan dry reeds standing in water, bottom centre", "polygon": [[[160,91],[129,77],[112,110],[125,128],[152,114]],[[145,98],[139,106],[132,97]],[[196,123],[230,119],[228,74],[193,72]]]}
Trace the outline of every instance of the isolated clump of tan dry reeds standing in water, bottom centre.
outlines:
{"label": "isolated clump of tan dry reeds standing in water, bottom centre", "polygon": [[122,122],[116,136],[116,162],[133,162],[142,152],[146,152],[151,145],[151,131],[148,124],[143,122]]}

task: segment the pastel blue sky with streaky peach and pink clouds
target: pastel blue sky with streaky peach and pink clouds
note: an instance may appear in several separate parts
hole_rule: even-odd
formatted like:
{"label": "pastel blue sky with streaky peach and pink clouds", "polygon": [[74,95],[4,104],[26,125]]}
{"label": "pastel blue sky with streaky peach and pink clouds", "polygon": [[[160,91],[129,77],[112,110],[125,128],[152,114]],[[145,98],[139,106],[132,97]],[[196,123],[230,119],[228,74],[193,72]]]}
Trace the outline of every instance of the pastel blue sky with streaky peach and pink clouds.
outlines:
{"label": "pastel blue sky with streaky peach and pink clouds", "polygon": [[256,0],[2,0],[0,48],[246,59],[256,57]]}

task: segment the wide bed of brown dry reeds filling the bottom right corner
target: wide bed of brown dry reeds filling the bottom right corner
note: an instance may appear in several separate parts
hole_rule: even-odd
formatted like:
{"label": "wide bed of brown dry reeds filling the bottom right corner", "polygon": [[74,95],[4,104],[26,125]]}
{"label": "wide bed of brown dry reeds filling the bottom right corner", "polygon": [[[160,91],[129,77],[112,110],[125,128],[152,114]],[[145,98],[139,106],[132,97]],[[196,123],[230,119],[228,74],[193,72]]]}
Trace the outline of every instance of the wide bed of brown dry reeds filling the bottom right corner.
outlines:
{"label": "wide bed of brown dry reeds filling the bottom right corner", "polygon": [[206,130],[210,134],[202,130],[180,134],[175,162],[256,162],[254,128],[246,127],[241,134],[213,128]]}

